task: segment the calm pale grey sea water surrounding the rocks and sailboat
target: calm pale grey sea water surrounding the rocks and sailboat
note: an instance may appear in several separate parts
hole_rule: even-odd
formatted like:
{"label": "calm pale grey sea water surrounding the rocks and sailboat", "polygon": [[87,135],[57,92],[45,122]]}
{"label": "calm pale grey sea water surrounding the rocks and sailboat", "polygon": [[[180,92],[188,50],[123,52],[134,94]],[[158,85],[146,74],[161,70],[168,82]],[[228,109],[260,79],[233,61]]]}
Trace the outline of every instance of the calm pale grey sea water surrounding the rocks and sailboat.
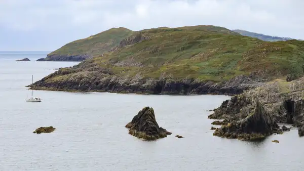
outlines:
{"label": "calm pale grey sea water surrounding the rocks and sailboat", "polygon": [[[35,81],[77,64],[34,61],[46,54],[0,52],[0,170],[303,170],[295,129],[262,142],[212,136],[206,110],[227,96],[34,91],[43,102],[27,103],[32,74]],[[128,134],[124,126],[145,106],[172,135],[147,142]],[[50,125],[51,134],[32,133]]]}

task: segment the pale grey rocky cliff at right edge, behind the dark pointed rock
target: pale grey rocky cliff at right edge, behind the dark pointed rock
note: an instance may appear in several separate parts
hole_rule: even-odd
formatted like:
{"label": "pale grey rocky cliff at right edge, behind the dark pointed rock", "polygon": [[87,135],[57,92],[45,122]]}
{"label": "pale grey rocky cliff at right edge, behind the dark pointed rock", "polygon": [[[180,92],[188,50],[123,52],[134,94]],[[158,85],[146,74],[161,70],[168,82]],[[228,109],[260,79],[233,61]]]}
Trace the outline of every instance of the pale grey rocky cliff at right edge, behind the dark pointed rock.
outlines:
{"label": "pale grey rocky cliff at right edge, behind the dark pointed rock", "polygon": [[[208,117],[211,119],[243,119],[254,108],[255,99],[258,99],[268,111],[273,113],[277,122],[301,127],[304,125],[303,85],[304,77],[288,82],[278,79],[265,83],[224,101]],[[282,127],[282,129],[288,131],[290,128]]]}

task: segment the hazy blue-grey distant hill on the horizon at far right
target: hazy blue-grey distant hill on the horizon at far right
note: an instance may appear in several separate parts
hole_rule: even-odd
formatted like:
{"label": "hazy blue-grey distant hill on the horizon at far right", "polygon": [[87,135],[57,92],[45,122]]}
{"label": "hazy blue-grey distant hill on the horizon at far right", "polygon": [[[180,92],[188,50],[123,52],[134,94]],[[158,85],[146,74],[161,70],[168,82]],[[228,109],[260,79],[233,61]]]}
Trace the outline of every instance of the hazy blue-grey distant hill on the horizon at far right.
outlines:
{"label": "hazy blue-grey distant hill on the horizon at far right", "polygon": [[258,38],[258,39],[264,40],[264,41],[286,41],[286,40],[294,39],[294,38],[290,38],[290,37],[277,37],[277,36],[264,35],[264,34],[254,33],[254,32],[245,31],[245,30],[238,30],[238,29],[232,30],[232,31],[240,33],[244,36],[255,37],[255,38]]}

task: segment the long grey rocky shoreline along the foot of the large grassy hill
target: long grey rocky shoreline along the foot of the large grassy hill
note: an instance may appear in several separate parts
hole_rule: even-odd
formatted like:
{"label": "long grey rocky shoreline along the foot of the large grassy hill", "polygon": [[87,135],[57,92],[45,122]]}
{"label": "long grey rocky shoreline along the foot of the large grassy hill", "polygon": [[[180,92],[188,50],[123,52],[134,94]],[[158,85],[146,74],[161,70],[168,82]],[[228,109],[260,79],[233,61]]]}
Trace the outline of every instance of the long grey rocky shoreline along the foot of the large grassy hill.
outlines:
{"label": "long grey rocky shoreline along the foot of the large grassy hill", "polygon": [[140,73],[135,76],[116,76],[108,69],[78,71],[74,67],[61,68],[35,82],[32,89],[72,92],[217,94],[232,96],[264,84],[264,82],[255,81],[245,75],[237,76],[229,81],[214,82],[200,81],[194,78],[174,78],[165,74],[159,78],[145,78]]}

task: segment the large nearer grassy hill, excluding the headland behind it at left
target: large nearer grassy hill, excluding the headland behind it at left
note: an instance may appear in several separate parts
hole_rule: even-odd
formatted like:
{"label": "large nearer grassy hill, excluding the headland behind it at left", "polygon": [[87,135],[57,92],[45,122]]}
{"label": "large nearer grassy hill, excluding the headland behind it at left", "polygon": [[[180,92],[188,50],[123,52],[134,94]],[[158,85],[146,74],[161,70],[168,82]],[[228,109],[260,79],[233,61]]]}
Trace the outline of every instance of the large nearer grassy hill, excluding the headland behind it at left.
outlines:
{"label": "large nearer grassy hill, excluding the headland behind it at left", "polygon": [[145,29],[133,32],[112,52],[49,75],[36,83],[36,89],[60,90],[63,88],[58,84],[80,85],[86,78],[90,79],[86,87],[93,90],[97,88],[90,87],[92,82],[102,84],[113,76],[118,82],[128,80],[129,86],[130,79],[138,78],[138,84],[143,85],[164,75],[167,80],[191,78],[205,83],[228,81],[238,75],[259,80],[289,74],[298,77],[303,75],[303,47],[298,40],[267,42],[214,26]]}

